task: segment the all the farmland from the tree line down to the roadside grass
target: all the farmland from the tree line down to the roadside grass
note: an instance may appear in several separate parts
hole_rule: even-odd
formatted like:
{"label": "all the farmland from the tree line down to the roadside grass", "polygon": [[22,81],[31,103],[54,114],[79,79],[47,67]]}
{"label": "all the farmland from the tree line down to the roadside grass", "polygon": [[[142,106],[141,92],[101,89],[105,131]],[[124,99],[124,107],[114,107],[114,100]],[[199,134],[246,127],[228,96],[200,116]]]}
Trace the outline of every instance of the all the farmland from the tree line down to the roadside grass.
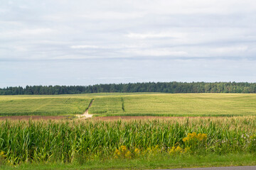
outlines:
{"label": "all the farmland from the tree line down to the roadside grass", "polygon": [[0,115],[0,169],[256,165],[256,94],[0,96]]}

